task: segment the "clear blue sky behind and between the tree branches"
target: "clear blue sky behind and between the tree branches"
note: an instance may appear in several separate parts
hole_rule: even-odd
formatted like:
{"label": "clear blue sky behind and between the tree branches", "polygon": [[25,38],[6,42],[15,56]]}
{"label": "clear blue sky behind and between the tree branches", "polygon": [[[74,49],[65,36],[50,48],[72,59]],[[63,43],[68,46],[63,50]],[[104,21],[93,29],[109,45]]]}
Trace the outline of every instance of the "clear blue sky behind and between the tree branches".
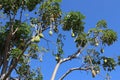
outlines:
{"label": "clear blue sky behind and between the tree branches", "polygon": [[[86,16],[85,30],[95,27],[97,21],[105,19],[108,27],[118,33],[118,41],[112,46],[105,48],[105,55],[115,58],[117,55],[120,55],[120,0],[63,0],[61,7],[64,12],[80,11],[82,14],[84,14]],[[66,32],[63,33],[66,35],[69,34]],[[73,44],[74,42],[69,35],[65,40],[65,54],[73,53],[76,50],[75,45]],[[54,39],[54,37],[51,37],[51,39]],[[44,45],[44,43],[40,44]],[[55,61],[52,55],[47,53],[44,55],[42,63],[39,65],[37,64],[37,61],[35,63],[34,67],[41,67],[44,80],[49,80],[55,66]],[[58,70],[55,80],[58,80],[58,78],[70,67],[78,66],[79,63],[81,62],[73,60],[62,64]],[[64,80],[104,80],[103,76],[105,77],[105,74],[106,72],[101,71],[96,78],[92,78],[90,72],[75,71],[69,74]],[[115,71],[110,73],[111,80],[120,80],[119,74],[120,68],[117,67]]]}

